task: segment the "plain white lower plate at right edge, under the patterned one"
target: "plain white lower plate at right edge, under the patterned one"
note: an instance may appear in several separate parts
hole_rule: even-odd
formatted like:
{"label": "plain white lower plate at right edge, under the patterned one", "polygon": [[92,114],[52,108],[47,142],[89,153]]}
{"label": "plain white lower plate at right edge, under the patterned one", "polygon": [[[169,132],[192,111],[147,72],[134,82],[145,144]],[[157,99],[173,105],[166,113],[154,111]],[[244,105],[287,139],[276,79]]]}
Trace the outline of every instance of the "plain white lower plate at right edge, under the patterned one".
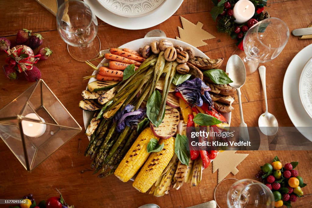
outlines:
{"label": "plain white lower plate at right edge, under the patterned one", "polygon": [[287,114],[295,127],[307,139],[312,141],[312,133],[306,132],[312,127],[312,119],[307,114],[300,102],[299,79],[305,63],[311,58],[312,44],[302,49],[290,62],[283,81],[283,99]]}

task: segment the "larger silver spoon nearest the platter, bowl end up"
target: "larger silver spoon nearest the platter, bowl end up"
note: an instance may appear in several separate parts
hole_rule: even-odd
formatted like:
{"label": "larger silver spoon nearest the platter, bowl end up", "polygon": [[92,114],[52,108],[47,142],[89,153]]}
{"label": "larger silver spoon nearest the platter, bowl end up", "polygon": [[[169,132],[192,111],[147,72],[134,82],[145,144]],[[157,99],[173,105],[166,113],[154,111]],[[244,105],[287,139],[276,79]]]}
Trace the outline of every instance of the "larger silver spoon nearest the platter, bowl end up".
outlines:
{"label": "larger silver spoon nearest the platter, bowl end up", "polygon": [[232,55],[229,58],[229,60],[227,61],[226,72],[229,74],[229,77],[233,81],[229,85],[231,87],[235,87],[236,92],[237,92],[239,112],[241,114],[241,123],[239,124],[239,127],[246,127],[246,128],[240,128],[239,136],[245,142],[247,142],[249,141],[249,134],[248,134],[247,124],[244,122],[243,108],[241,105],[241,87],[246,82],[246,69],[245,69],[244,62],[241,60],[239,56]]}

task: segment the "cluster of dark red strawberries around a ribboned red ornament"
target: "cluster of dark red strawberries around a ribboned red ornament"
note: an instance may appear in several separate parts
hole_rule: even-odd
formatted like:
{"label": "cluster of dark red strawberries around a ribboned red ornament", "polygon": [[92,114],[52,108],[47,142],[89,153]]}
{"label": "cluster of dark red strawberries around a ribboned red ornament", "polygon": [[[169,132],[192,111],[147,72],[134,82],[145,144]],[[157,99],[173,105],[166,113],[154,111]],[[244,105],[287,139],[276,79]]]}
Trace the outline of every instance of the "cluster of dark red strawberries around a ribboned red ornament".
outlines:
{"label": "cluster of dark red strawberries around a ribboned red ornament", "polygon": [[31,30],[22,29],[17,32],[16,46],[11,47],[11,41],[6,37],[0,37],[0,51],[7,53],[3,66],[4,74],[8,79],[16,80],[18,73],[23,73],[26,80],[35,82],[41,78],[41,72],[34,66],[39,60],[47,60],[52,54],[48,47],[42,47],[37,54],[34,54],[43,43],[43,37],[39,33],[32,34]]}

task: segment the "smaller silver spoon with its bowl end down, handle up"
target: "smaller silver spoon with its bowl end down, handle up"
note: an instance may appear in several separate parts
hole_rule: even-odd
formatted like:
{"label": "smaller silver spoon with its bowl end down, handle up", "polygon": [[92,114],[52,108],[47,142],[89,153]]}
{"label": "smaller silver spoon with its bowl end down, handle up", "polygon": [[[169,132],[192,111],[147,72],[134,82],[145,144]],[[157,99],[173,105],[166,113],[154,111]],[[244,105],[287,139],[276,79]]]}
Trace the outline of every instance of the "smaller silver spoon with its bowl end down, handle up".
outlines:
{"label": "smaller silver spoon with its bowl end down, handle up", "polygon": [[275,118],[275,116],[268,112],[268,101],[266,98],[266,67],[265,66],[259,67],[259,74],[260,74],[262,88],[263,88],[264,101],[266,103],[266,112],[261,114],[258,120],[258,124],[262,133],[264,133],[267,136],[272,136],[278,130],[278,123],[277,123],[277,119]]}

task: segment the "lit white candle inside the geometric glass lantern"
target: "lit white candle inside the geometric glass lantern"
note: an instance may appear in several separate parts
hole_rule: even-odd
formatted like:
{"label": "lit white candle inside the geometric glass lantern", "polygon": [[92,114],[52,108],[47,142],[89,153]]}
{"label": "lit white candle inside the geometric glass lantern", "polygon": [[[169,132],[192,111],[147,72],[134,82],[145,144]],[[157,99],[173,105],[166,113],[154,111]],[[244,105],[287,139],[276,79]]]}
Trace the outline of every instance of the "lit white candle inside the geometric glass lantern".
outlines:
{"label": "lit white candle inside the geometric glass lantern", "polygon": [[[45,122],[44,119],[33,113],[27,114],[25,118],[36,119]],[[25,135],[29,137],[40,137],[46,131],[46,124],[22,120],[22,128]]]}

